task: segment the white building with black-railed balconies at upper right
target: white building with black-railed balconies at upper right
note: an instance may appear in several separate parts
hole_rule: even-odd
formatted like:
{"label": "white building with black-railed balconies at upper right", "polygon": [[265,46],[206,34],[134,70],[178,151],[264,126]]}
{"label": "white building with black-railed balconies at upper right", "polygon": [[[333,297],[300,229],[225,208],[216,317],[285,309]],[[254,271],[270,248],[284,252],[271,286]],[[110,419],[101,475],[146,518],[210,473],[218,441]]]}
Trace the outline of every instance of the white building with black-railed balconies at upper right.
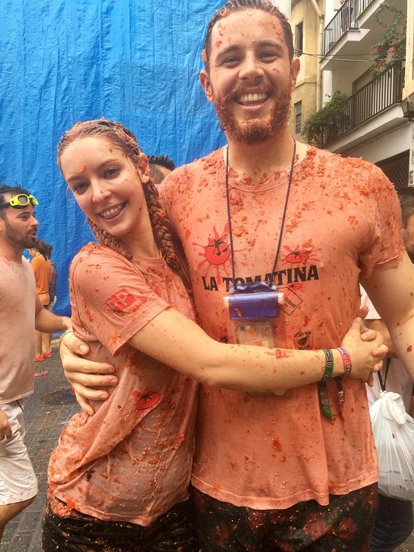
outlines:
{"label": "white building with black-railed balconies at upper right", "polygon": [[[335,90],[348,98],[321,141],[333,152],[372,161],[400,188],[414,184],[414,0],[388,0],[394,11],[382,9],[383,1],[326,0],[322,101]],[[407,14],[406,58],[375,75],[373,45],[395,21],[395,10]]]}

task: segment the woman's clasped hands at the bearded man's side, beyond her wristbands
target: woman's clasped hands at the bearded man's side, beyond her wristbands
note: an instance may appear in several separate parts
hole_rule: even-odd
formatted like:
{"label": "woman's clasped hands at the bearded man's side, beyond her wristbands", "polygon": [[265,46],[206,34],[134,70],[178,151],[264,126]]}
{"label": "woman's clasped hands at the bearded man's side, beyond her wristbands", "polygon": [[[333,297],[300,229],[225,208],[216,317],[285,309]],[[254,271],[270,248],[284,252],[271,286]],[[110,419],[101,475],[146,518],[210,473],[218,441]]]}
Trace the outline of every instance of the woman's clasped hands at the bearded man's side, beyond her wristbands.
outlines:
{"label": "woman's clasped hands at the bearded man's side, beyond her wristbands", "polygon": [[372,386],[372,373],[381,370],[382,359],[388,353],[383,342],[381,333],[365,328],[361,318],[353,319],[351,328],[342,339],[342,346],[351,355],[351,377]]}

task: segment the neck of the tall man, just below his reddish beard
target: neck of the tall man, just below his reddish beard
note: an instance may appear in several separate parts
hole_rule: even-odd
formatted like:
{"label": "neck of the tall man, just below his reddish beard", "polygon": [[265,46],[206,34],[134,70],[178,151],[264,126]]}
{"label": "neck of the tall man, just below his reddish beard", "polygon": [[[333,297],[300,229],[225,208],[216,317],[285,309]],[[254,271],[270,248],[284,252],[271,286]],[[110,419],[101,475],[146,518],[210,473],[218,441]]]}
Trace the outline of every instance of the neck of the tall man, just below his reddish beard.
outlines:
{"label": "neck of the tall man, just below his reddish beard", "polygon": [[[306,146],[297,149],[299,159],[304,157],[304,152]],[[253,180],[264,172],[271,175],[275,170],[289,170],[292,154],[293,138],[287,128],[257,144],[245,144],[228,136],[228,166]]]}

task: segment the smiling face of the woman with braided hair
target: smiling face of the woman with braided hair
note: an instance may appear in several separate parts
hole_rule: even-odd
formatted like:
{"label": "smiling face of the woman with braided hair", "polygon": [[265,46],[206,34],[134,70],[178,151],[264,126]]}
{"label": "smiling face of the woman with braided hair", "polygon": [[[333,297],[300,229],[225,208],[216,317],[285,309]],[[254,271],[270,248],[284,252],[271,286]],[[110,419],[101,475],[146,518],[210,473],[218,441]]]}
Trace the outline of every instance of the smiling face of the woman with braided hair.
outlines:
{"label": "smiling face of the woman with braided hair", "polygon": [[60,157],[63,177],[83,213],[115,237],[133,238],[146,209],[148,176],[103,137],[75,139]]}

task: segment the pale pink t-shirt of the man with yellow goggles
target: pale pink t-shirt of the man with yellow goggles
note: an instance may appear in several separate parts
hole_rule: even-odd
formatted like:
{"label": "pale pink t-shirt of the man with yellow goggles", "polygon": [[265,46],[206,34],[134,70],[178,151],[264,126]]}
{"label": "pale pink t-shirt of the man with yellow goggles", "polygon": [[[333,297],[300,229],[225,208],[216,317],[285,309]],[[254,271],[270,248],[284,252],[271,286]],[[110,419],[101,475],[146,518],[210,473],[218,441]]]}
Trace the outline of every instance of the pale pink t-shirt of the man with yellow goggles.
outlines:
{"label": "pale pink t-shirt of the man with yellow goggles", "polygon": [[30,264],[0,255],[0,404],[33,393],[35,313]]}

